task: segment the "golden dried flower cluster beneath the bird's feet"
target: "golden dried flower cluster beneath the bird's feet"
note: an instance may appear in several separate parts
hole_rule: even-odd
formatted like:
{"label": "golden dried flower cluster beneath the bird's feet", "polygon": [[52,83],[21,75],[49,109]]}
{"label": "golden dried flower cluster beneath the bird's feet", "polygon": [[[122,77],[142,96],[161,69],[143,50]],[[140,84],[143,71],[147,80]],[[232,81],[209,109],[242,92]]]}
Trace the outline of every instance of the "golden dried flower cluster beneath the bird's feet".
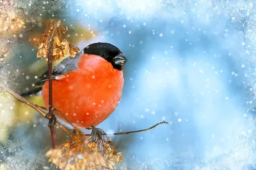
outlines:
{"label": "golden dried flower cluster beneath the bird's feet", "polygon": [[116,152],[111,139],[103,131],[97,131],[100,136],[86,136],[76,129],[73,139],[46,153],[49,162],[65,170],[114,169],[122,161],[122,153]]}

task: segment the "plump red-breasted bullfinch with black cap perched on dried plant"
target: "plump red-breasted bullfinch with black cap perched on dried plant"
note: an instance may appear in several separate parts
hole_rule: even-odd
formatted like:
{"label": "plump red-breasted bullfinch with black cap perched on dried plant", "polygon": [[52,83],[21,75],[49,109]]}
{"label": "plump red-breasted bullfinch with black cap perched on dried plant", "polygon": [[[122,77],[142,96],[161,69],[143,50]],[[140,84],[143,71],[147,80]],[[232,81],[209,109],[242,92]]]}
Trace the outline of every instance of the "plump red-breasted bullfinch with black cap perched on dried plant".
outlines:
{"label": "plump red-breasted bullfinch with black cap perched on dried plant", "polygon": [[[124,87],[125,55],[110,43],[92,43],[75,57],[67,57],[52,67],[52,108],[64,124],[95,127],[116,110]],[[36,89],[21,96],[41,92],[49,107],[48,71],[35,82]]]}

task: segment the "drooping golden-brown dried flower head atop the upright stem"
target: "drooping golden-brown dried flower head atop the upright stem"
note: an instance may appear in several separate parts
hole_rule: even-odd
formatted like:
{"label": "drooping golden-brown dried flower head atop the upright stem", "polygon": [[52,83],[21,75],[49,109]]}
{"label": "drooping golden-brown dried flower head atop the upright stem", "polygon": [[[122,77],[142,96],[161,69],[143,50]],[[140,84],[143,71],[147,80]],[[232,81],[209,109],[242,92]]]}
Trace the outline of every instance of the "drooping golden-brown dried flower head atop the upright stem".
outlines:
{"label": "drooping golden-brown dried flower head atop the upright stem", "polygon": [[52,61],[61,59],[67,55],[74,57],[79,52],[79,48],[70,44],[66,37],[62,38],[62,34],[65,35],[65,32],[67,32],[67,29],[61,25],[60,20],[47,20],[45,32],[40,36],[38,42],[36,56],[44,57],[47,61],[49,55],[52,55]]}

